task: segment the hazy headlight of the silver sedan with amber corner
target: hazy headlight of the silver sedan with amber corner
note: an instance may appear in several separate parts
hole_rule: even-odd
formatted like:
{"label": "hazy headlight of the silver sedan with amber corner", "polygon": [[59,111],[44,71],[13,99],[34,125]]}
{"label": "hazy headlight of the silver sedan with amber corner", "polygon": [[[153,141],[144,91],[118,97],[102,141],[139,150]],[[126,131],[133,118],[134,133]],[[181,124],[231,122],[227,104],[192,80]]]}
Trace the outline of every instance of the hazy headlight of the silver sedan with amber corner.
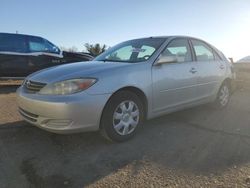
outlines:
{"label": "hazy headlight of the silver sedan with amber corner", "polygon": [[56,82],[46,85],[39,91],[39,94],[69,95],[88,89],[90,86],[96,83],[96,81],[97,80],[94,78],[82,78]]}

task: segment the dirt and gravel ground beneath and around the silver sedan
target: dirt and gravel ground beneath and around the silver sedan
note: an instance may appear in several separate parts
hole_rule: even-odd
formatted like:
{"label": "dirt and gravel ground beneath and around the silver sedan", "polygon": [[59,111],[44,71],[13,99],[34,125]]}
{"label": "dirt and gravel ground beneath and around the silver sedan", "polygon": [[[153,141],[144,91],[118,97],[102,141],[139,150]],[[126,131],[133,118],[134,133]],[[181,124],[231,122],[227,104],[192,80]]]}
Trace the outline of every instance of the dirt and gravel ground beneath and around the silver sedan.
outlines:
{"label": "dirt and gravel ground beneath and around the silver sedan", "polygon": [[16,87],[0,89],[0,187],[250,187],[250,91],[145,123],[112,144],[23,122]]}

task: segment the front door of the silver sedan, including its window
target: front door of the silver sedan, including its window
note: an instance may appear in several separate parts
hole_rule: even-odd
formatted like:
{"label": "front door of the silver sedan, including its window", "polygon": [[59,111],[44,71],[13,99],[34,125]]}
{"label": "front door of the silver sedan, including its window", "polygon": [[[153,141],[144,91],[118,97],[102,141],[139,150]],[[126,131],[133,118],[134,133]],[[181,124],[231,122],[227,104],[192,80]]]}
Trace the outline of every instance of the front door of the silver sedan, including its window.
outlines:
{"label": "front door of the silver sedan, including its window", "polygon": [[172,40],[161,57],[175,57],[176,62],[152,67],[153,111],[166,111],[197,99],[197,63],[193,61],[187,39]]}

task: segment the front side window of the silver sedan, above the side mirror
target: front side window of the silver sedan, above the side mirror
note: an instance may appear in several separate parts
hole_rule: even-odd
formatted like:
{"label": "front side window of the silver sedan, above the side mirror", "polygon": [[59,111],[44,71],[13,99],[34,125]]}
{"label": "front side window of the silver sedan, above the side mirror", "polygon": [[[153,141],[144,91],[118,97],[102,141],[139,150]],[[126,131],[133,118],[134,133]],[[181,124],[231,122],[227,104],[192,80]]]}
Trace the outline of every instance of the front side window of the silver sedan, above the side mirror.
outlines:
{"label": "front side window of the silver sedan, above the side mirror", "polygon": [[174,39],[162,52],[163,57],[175,57],[178,63],[192,61],[192,55],[187,39]]}

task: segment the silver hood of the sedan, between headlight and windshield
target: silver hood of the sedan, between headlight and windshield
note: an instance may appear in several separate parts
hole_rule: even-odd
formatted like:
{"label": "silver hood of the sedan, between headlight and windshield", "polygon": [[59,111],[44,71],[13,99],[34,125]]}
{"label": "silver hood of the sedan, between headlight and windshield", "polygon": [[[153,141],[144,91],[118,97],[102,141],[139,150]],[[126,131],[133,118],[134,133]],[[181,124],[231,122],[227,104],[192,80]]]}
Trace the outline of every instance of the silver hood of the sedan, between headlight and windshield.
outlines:
{"label": "silver hood of the sedan, between headlight and windshield", "polygon": [[103,61],[70,63],[35,72],[28,76],[27,79],[36,82],[52,83],[74,78],[91,77],[95,73],[128,66],[129,64]]}

